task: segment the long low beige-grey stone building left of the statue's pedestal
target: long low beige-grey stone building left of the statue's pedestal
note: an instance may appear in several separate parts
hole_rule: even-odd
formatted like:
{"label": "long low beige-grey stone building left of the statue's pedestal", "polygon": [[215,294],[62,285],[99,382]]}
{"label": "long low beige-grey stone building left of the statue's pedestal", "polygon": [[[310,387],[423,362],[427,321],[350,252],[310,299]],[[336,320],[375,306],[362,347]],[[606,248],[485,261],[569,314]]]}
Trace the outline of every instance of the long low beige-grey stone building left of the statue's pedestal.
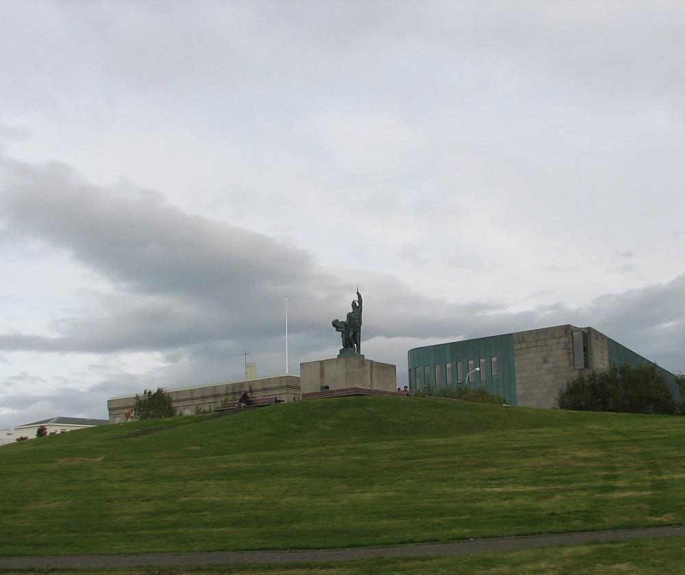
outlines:
{"label": "long low beige-grey stone building left of the statue's pedestal", "polygon": [[[300,398],[299,377],[290,375],[169,389],[168,393],[179,415],[195,415],[200,409],[211,411],[212,406],[220,407],[225,401],[238,400],[245,389],[254,399],[273,397],[292,402]],[[133,409],[135,399],[135,395],[127,395],[108,400],[110,424],[125,421],[125,414]]]}

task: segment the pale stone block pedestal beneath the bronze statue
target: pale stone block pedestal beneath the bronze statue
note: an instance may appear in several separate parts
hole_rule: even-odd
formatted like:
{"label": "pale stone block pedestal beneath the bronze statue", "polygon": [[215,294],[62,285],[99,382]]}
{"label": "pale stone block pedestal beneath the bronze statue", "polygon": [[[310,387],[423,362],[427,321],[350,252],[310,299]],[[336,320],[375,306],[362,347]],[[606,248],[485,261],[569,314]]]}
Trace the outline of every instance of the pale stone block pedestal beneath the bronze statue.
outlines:
{"label": "pale stone block pedestal beneath the bronze statue", "polygon": [[397,391],[397,367],[360,354],[300,364],[301,393],[363,387]]}

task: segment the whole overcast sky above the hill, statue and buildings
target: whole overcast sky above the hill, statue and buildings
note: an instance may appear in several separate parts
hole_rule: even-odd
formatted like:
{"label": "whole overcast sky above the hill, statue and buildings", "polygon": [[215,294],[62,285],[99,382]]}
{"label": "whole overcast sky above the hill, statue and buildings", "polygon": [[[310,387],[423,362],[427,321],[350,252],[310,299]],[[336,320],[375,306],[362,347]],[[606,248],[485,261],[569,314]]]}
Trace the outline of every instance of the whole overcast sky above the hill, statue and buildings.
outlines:
{"label": "whole overcast sky above the hill, statue and buildings", "polygon": [[685,370],[685,6],[0,0],[0,428],[573,323]]}

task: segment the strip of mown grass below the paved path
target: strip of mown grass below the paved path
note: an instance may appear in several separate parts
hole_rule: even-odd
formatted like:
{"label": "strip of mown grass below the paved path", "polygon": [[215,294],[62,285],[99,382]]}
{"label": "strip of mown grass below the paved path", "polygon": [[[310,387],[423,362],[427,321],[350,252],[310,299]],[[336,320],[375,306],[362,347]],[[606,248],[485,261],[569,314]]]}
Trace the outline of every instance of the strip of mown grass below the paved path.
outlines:
{"label": "strip of mown grass below the paved path", "polygon": [[221,567],[134,567],[98,570],[12,570],[5,575],[681,575],[685,539],[585,543],[451,557],[361,559],[342,563],[248,564]]}

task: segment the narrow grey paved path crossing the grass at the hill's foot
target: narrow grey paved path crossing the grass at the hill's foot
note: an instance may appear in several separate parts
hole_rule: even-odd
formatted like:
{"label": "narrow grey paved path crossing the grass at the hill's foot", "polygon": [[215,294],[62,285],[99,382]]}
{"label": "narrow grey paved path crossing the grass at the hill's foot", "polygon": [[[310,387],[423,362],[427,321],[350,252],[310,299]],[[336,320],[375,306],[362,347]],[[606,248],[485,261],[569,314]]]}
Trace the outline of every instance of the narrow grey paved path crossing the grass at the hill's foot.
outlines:
{"label": "narrow grey paved path crossing the grass at the hill's foot", "polygon": [[492,537],[451,543],[421,543],[391,547],[356,547],[299,551],[214,551],[201,553],[147,553],[141,555],[65,555],[0,557],[0,569],[40,567],[170,567],[175,565],[227,565],[229,563],[297,563],[302,561],[353,561],[370,557],[462,555],[479,551],[512,551],[548,545],[575,545],[590,541],[625,541],[645,537],[685,537],[685,526],[608,531]]}

